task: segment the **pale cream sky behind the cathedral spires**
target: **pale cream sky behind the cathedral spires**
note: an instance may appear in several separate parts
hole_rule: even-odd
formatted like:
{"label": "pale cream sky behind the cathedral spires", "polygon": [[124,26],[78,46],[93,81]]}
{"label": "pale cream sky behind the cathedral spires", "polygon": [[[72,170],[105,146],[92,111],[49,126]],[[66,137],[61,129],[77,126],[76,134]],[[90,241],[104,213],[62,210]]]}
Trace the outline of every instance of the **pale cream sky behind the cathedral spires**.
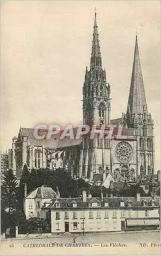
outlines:
{"label": "pale cream sky behind the cathedral spires", "polygon": [[96,8],[111,119],[126,113],[137,30],[159,169],[159,1],[2,1],[1,7],[2,151],[12,148],[20,125],[82,123]]}

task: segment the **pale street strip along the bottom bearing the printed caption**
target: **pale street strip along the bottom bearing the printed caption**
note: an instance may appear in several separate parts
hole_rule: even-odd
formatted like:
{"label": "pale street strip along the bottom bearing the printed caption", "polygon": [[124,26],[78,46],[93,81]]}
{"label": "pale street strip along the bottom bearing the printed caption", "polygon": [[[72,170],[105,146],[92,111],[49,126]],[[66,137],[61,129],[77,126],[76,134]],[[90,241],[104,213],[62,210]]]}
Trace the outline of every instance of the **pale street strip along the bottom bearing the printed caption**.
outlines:
{"label": "pale street strip along the bottom bearing the printed caption", "polygon": [[78,237],[4,240],[2,255],[159,254],[159,232],[85,234]]}

